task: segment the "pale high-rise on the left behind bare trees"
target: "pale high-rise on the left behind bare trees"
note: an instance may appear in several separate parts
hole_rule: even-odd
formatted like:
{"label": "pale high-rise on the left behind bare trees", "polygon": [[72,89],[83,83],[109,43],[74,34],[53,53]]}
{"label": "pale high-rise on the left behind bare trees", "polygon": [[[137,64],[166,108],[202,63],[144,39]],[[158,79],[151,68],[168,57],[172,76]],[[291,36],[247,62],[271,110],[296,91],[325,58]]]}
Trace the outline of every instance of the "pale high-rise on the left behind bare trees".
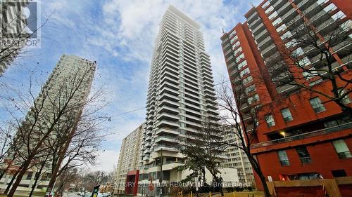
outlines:
{"label": "pale high-rise on the left behind bare trees", "polygon": [[[63,133],[68,130],[72,131],[72,128],[76,126],[75,124],[81,117],[82,109],[89,96],[95,69],[96,62],[74,55],[62,55],[53,72],[51,72],[49,79],[47,79],[44,84],[42,91],[40,91],[39,96],[34,101],[35,106],[37,109],[40,109],[40,111],[29,111],[25,117],[25,121],[23,121],[22,128],[25,128],[25,125],[30,125],[33,129],[30,134],[27,133],[29,129],[23,129],[23,132],[18,134],[21,137],[20,142],[28,138],[28,140],[23,143],[36,144],[38,139],[41,139],[36,136],[43,136],[49,133],[48,128],[53,125],[54,129],[51,130],[49,136],[45,138],[46,140],[54,141],[58,135],[64,136]],[[65,108],[63,107],[64,104]],[[58,118],[58,109],[65,110],[63,110],[63,115],[56,121],[56,124],[53,124],[55,117]],[[39,118],[34,118],[34,116]],[[68,133],[65,135],[68,135]],[[18,142],[18,144],[20,142]],[[45,144],[42,145],[42,147],[45,146]],[[25,147],[27,146],[23,147],[23,150],[18,149],[18,151],[21,151],[21,155],[25,157],[28,151],[32,149],[26,149]],[[9,158],[11,157],[9,156]],[[41,159],[44,158],[45,156],[40,157],[37,155],[36,161],[42,161]],[[19,162],[22,162],[20,158],[18,159]],[[42,162],[44,161],[45,160]],[[39,170],[40,166],[38,165],[34,165],[27,170],[17,190],[30,191],[34,184],[34,177],[40,173],[39,182],[34,191],[45,191],[51,178],[50,161],[51,160],[46,161],[44,170],[42,171]],[[18,164],[13,164],[18,163],[18,161],[15,160],[13,162],[11,159],[6,159],[6,163],[2,163],[0,168],[5,169],[8,163],[11,163],[11,165],[8,174],[4,175],[0,180],[1,189],[6,188],[6,184],[8,184],[13,177],[13,170],[18,169]]]}

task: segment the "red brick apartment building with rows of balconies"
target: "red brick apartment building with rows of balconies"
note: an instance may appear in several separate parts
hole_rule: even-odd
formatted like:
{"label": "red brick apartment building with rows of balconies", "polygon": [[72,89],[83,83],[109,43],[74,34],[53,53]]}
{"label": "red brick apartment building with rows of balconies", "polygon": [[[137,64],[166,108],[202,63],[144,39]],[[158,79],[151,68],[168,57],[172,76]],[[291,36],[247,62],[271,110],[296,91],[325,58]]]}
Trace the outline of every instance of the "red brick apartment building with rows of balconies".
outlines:
{"label": "red brick apartment building with rows of balconies", "polygon": [[[258,109],[259,120],[263,121],[259,121],[252,152],[268,182],[317,177],[352,179],[351,116],[343,114],[339,105],[327,102],[320,94],[297,86],[278,86],[272,79],[272,69],[268,69],[272,57],[282,55],[279,49],[289,48],[283,38],[290,35],[287,27],[292,20],[304,18],[318,29],[322,39],[326,39],[324,34],[332,25],[348,35],[344,39],[347,44],[332,47],[332,67],[351,80],[351,13],[351,0],[267,0],[246,13],[246,22],[237,24],[221,37],[234,91],[244,90],[240,95],[245,95],[246,102],[238,106],[244,114],[244,123],[253,127],[253,120],[247,115],[251,109]],[[310,65],[319,67],[319,54],[311,53],[308,47],[295,47],[300,48],[302,57]],[[310,86],[331,94],[329,81],[312,80]],[[346,86],[346,90],[351,88],[351,83]],[[344,97],[344,103],[352,106],[351,94]],[[352,196],[351,179],[339,183],[342,196]],[[256,184],[262,189],[258,177]],[[310,193],[322,190],[320,186],[309,189]]]}

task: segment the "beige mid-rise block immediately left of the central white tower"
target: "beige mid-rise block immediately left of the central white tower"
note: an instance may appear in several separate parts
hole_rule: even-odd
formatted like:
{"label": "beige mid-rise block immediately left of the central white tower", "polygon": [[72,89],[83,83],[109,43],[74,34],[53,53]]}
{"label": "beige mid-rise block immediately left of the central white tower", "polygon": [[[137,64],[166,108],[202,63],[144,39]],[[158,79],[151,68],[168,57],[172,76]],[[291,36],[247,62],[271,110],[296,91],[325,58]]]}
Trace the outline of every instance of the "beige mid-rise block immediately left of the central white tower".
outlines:
{"label": "beige mid-rise block immediately left of the central white tower", "polygon": [[140,157],[142,154],[143,132],[144,123],[139,125],[138,128],[122,140],[120,156],[118,157],[118,167],[115,175],[114,193],[125,193],[127,176],[132,175],[134,177],[130,178],[134,179],[138,174],[136,171],[139,170],[141,164],[140,161],[142,161]]}

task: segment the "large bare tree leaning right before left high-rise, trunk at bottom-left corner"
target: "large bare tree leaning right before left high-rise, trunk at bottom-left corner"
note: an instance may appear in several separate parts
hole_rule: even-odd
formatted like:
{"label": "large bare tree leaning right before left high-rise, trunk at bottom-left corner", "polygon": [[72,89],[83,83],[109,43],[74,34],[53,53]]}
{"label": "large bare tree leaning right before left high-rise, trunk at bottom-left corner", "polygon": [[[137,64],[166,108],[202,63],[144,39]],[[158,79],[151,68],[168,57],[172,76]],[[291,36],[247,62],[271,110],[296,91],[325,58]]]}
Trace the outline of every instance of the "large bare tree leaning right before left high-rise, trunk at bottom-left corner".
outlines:
{"label": "large bare tree leaning right before left high-rise, trunk at bottom-left corner", "polygon": [[[30,81],[32,102],[27,101],[26,97],[22,95],[18,101],[13,100],[18,107],[24,105],[31,107],[25,120],[18,119],[12,114],[17,123],[16,140],[20,143],[16,152],[22,159],[22,165],[8,196],[13,196],[23,175],[30,168],[31,163],[35,161],[36,156],[50,151],[50,147],[46,143],[47,140],[52,139],[52,135],[58,130],[66,135],[69,133],[68,136],[72,137],[71,134],[77,128],[84,106],[96,99],[93,96],[82,100],[84,91],[85,94],[89,93],[87,80],[92,77],[95,69],[89,64],[92,63],[87,62],[87,67],[82,67],[68,76],[61,76],[61,79],[58,79],[58,76],[51,76],[49,81],[41,86],[39,97],[34,96],[33,84]],[[53,80],[55,80],[56,86],[52,86],[53,82],[50,83]],[[25,114],[25,109],[23,114]],[[68,147],[69,143],[66,140],[64,147]],[[65,150],[62,152],[65,153]]]}

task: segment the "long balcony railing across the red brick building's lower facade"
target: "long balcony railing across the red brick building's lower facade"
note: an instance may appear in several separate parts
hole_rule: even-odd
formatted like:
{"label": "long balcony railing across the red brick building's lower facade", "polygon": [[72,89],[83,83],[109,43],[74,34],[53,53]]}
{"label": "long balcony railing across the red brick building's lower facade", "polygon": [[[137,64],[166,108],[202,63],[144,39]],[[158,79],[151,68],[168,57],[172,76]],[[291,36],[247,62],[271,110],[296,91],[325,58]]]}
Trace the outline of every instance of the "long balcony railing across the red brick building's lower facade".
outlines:
{"label": "long balcony railing across the red brick building's lower facade", "polygon": [[342,125],[337,125],[337,126],[333,126],[333,127],[330,127],[330,128],[324,128],[324,129],[320,129],[320,130],[315,130],[315,131],[308,132],[308,133],[302,133],[302,134],[299,134],[299,135],[293,135],[293,136],[285,137],[285,138],[278,139],[278,140],[260,142],[258,144],[251,145],[251,148],[252,149],[256,149],[256,148],[260,148],[260,147],[268,147],[268,146],[275,145],[275,144],[282,144],[284,142],[292,142],[292,141],[295,141],[295,140],[302,140],[302,139],[306,139],[306,138],[309,138],[309,137],[315,137],[315,136],[318,136],[318,135],[325,135],[325,134],[328,134],[328,133],[334,133],[334,132],[337,132],[339,130],[345,130],[345,129],[348,129],[348,128],[352,128],[352,122],[344,123]]}

